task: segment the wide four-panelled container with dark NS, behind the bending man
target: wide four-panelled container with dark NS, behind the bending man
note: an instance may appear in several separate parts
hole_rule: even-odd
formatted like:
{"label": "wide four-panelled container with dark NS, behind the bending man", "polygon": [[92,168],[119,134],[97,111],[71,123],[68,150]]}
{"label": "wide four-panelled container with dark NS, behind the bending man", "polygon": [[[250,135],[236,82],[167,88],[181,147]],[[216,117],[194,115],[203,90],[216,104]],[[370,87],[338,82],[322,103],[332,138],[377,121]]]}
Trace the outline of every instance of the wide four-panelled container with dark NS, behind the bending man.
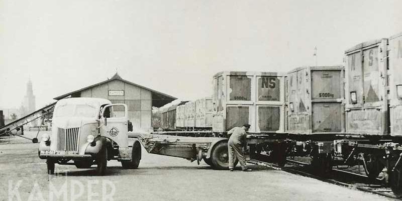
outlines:
{"label": "wide four-panelled container with dark NS, behind the bending man", "polygon": [[284,132],[284,73],[224,71],[213,80],[214,132],[245,123],[250,133]]}

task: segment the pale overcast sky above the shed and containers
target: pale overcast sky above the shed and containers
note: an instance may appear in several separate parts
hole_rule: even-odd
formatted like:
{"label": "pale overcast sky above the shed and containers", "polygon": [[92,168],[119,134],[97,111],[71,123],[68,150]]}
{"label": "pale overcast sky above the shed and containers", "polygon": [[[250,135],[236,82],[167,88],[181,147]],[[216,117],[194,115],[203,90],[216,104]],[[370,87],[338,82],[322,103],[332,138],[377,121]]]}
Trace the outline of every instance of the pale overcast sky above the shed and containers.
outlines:
{"label": "pale overcast sky above the shed and containers", "polygon": [[219,71],[342,64],[343,52],[402,32],[402,1],[0,0],[0,107],[37,108],[112,77],[180,99]]}

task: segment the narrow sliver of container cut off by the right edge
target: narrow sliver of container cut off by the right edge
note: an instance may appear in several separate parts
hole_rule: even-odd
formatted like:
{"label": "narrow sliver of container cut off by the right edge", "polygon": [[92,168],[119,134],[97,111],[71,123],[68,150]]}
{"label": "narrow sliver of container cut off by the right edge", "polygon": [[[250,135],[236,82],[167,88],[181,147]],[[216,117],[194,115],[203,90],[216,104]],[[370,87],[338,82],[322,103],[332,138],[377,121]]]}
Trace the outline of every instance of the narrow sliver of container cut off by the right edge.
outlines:
{"label": "narrow sliver of container cut off by the right edge", "polygon": [[389,38],[388,52],[390,134],[402,136],[402,33]]}

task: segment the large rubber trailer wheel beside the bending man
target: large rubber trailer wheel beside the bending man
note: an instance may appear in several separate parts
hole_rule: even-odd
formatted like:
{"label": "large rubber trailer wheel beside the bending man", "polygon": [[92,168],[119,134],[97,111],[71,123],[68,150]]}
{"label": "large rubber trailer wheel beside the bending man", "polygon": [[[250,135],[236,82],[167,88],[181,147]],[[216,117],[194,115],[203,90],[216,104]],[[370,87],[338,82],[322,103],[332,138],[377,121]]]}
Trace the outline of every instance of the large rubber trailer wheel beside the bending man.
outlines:
{"label": "large rubber trailer wheel beside the bending man", "polygon": [[[220,142],[217,145],[215,145],[214,149],[212,150],[210,160],[212,162],[211,166],[213,168],[220,170],[223,169],[227,170],[229,168],[228,142]],[[234,166],[237,165],[237,162],[238,160],[236,159]]]}

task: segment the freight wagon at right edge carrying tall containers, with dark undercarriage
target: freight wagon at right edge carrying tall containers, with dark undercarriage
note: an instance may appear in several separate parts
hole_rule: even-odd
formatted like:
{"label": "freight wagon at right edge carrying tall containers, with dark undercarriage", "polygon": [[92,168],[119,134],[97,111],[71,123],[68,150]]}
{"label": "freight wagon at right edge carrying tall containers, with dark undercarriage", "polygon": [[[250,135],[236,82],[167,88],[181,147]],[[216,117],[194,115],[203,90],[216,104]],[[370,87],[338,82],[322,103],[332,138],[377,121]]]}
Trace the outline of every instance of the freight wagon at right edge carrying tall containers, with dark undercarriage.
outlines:
{"label": "freight wagon at right edge carrying tall containers, with dark undercarriage", "polygon": [[402,34],[345,51],[349,138],[334,142],[334,156],[343,157],[346,164],[362,162],[370,178],[386,170],[398,196],[402,195],[401,68]]}

